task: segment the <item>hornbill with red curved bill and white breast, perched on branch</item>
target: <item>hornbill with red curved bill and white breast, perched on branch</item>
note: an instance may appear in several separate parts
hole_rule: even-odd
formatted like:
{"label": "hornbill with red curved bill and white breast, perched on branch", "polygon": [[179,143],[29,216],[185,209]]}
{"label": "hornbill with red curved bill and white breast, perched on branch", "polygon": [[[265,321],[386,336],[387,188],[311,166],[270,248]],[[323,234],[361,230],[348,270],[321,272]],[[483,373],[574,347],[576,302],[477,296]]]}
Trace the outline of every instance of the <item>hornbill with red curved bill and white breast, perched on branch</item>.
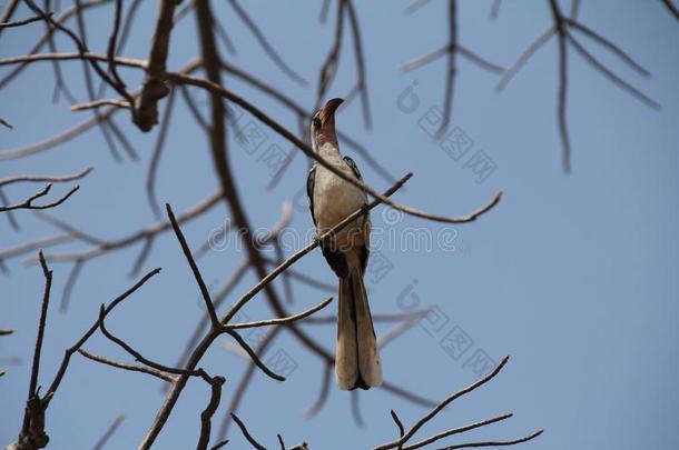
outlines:
{"label": "hornbill with red curved bill and white breast, perched on branch", "polygon": [[[313,116],[313,150],[346,177],[363,181],[354,160],[340,152],[335,111],[343,101],[328,100]],[[367,196],[362,189],[318,163],[308,172],[306,193],[317,236],[367,204]],[[323,256],[338,278],[335,374],[337,386],[343,390],[367,390],[382,384],[382,364],[363,280],[370,257],[370,233],[371,220],[365,213],[321,242]]]}

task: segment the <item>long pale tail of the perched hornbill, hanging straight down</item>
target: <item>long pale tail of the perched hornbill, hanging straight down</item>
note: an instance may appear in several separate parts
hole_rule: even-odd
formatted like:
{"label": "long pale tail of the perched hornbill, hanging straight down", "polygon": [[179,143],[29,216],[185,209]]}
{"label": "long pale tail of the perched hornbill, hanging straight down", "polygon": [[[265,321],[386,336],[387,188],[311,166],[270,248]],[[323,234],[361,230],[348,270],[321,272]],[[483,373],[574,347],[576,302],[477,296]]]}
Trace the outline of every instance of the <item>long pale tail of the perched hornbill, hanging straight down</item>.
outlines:
{"label": "long pale tail of the perched hornbill, hanging straight down", "polygon": [[340,389],[370,389],[382,384],[382,366],[371,308],[361,269],[340,279],[337,353],[335,372]]}

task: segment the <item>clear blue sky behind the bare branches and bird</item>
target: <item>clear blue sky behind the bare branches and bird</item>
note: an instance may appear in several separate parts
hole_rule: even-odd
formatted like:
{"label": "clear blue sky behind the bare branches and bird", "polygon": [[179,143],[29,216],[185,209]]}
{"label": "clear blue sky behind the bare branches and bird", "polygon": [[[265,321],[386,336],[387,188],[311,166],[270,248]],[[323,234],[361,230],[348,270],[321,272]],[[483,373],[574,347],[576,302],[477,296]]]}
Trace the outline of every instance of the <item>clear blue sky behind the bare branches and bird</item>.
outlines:
{"label": "clear blue sky behind the bare branches and bird", "polygon": [[[286,60],[316,82],[317,70],[332,39],[333,19],[318,23],[317,2],[264,2],[245,4],[258,26]],[[511,439],[538,428],[545,433],[527,449],[676,449],[679,413],[679,319],[676,276],[679,241],[679,22],[659,1],[585,1],[581,21],[599,30],[634,56],[652,73],[644,79],[587,40],[587,47],[618,73],[660,102],[655,111],[637,102],[577,53],[569,51],[568,121],[573,147],[573,173],[560,166],[561,147],[555,127],[557,44],[548,43],[501,94],[499,78],[459,60],[453,126],[473,141],[460,161],[451,159],[420,128],[420,119],[440,107],[445,63],[433,62],[409,74],[397,68],[406,60],[445,42],[443,2],[430,2],[406,16],[405,1],[380,6],[356,2],[363,30],[374,127],[365,131],[358,102],[338,116],[338,127],[354,137],[391,173],[413,171],[415,177],[397,198],[419,208],[463,214],[486,202],[502,189],[499,207],[472,224],[455,227],[453,250],[431,251],[385,248],[382,257],[393,266],[378,280],[368,281],[374,312],[398,312],[417,302],[435,307],[427,327],[415,326],[382,352],[386,378],[419,394],[442,399],[474,381],[478,374],[465,362],[475,352],[499,361],[512,359],[491,384],[463,398],[430,423],[422,437],[453,426],[513,411],[515,417],[470,434],[466,439]],[[488,59],[510,64],[550,24],[547,2],[504,1],[498,20],[489,18],[491,1],[460,2],[460,41]],[[563,8],[568,8],[564,2]],[[227,2],[213,6],[238,53],[226,58],[312,108],[315,89],[301,88],[281,73],[235,17]],[[145,2],[137,18],[126,56],[146,58],[156,2]],[[22,9],[22,17],[28,12]],[[102,51],[111,23],[110,10],[92,10],[91,47]],[[95,26],[96,23],[96,26]],[[73,26],[73,23],[70,23]],[[197,53],[194,17],[187,18],[173,37],[170,63],[179,68]],[[41,30],[33,24],[7,30],[1,56],[21,54]],[[354,81],[351,37],[345,37],[341,70],[331,96],[344,96]],[[60,39],[60,48],[71,48]],[[69,86],[82,86],[80,64],[63,64]],[[4,72],[6,69],[2,69]],[[138,86],[138,71],[122,71],[130,87]],[[413,112],[398,107],[404,89],[416,81],[419,107]],[[226,78],[234,91],[296,129],[296,118],[247,86]],[[0,117],[14,124],[0,130],[1,149],[33,142],[88,118],[71,113],[62,100],[51,104],[53,77],[48,63],[35,64],[22,78],[0,92]],[[82,90],[76,89],[83,100]],[[171,122],[168,146],[160,164],[158,192],[181,211],[217,188],[204,134],[183,101]],[[141,193],[157,130],[140,134],[126,113],[117,123],[141,156],[139,162],[116,163],[99,131],[48,152],[0,162],[0,177],[17,173],[71,173],[87,166],[96,170],[81,182],[81,190],[50,213],[101,238],[117,238],[150,223],[154,218]],[[249,120],[247,117],[244,120]],[[274,133],[268,142],[289,147]],[[285,200],[303,188],[307,166],[296,158],[283,182],[266,190],[267,167],[244,152],[233,139],[229,158],[236,169],[240,194],[255,227],[270,227]],[[382,180],[347,146],[364,178],[382,189]],[[482,183],[464,161],[483,150],[496,169]],[[19,200],[31,186],[7,193]],[[63,187],[56,187],[62,192]],[[673,193],[672,193],[673,192]],[[0,221],[0,247],[55,233],[29,212],[19,212],[21,232]],[[184,227],[193,247],[228,217],[219,206],[204,219]],[[384,227],[381,209],[373,213],[375,227]],[[303,208],[295,209],[293,227],[309,229]],[[402,232],[424,228],[439,236],[442,224],[405,217],[394,227]],[[672,231],[673,230],[673,231]],[[298,242],[296,247],[301,247]],[[63,250],[81,248],[65,246]],[[53,263],[53,302],[41,364],[40,383],[51,381],[62,351],[89,327],[99,304],[127,289],[127,277],[139,248],[127,249],[88,263],[77,283],[66,314],[58,302],[69,266]],[[207,280],[222,286],[243,256],[234,249],[211,251],[200,268]],[[9,261],[11,273],[0,278],[0,327],[16,334],[0,339],[0,358],[8,373],[0,380],[0,442],[10,442],[20,428],[28,389],[30,356],[37,328],[42,276],[36,266],[20,259]],[[201,314],[198,290],[179,247],[170,236],[156,242],[146,268],[161,266],[160,276],[122,304],[109,320],[111,330],[132,342],[144,354],[174,363],[183,343]],[[319,252],[297,267],[334,282]],[[245,292],[256,280],[252,274],[235,293]],[[411,291],[407,289],[413,288]],[[279,282],[276,289],[283,292]],[[327,292],[296,286],[293,310],[319,302]],[[414,296],[414,297],[413,297]],[[232,296],[229,301],[233,301]],[[398,301],[401,299],[401,301]],[[401,307],[400,307],[401,306]],[[331,307],[334,312],[335,306]],[[249,318],[267,318],[270,311],[259,296],[247,307]],[[390,329],[378,326],[378,333]],[[457,327],[457,328],[455,328]],[[308,326],[308,332],[327,349],[334,348],[334,328]],[[450,332],[463,330],[473,341],[457,359],[440,346]],[[433,336],[430,336],[433,334]],[[100,354],[129,360],[111,342],[96,336],[87,348]],[[287,333],[270,349],[285,351],[297,364],[285,383],[257,373],[239,410],[250,431],[267,447],[276,446],[281,432],[288,444],[305,440],[313,449],[366,448],[396,437],[390,418],[395,409],[406,426],[425,409],[381,389],[361,393],[365,421],[357,428],[350,412],[350,394],[331,389],[321,413],[304,419],[319,389],[323,366]],[[21,363],[12,359],[21,358]],[[230,401],[246,363],[219,344],[204,361],[211,373],[224,373],[227,383],[216,426]],[[198,414],[208,400],[203,382],[191,381],[163,431],[157,447],[191,448],[198,433]],[[159,382],[120,372],[76,356],[47,414],[51,448],[81,449],[91,446],[119,414],[126,419],[109,448],[134,448],[150,426],[163,402]],[[233,448],[244,448],[242,436],[229,430]],[[465,439],[465,440],[466,440]],[[451,440],[461,442],[462,438]]]}

